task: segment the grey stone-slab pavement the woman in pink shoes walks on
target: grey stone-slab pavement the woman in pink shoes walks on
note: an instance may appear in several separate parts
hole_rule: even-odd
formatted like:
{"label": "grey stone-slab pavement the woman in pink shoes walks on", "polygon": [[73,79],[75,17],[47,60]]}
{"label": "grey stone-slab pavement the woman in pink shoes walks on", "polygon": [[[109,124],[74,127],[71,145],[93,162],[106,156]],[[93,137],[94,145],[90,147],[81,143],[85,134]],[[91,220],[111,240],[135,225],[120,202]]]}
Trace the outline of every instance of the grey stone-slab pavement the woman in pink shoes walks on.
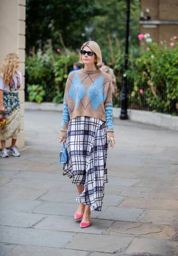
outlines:
{"label": "grey stone-slab pavement the woman in pink shoes walks on", "polygon": [[26,149],[0,159],[0,255],[177,256],[178,133],[115,119],[103,211],[81,229],[60,123],[61,113],[26,111]]}

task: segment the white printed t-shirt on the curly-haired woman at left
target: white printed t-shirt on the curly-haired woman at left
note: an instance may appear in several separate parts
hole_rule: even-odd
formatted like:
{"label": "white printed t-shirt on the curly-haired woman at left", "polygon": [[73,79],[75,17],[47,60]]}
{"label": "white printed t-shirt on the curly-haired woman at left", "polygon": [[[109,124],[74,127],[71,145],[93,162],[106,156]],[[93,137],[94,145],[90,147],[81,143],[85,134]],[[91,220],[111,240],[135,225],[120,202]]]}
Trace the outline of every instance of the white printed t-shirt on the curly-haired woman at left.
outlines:
{"label": "white printed t-shirt on the curly-haired woman at left", "polygon": [[4,84],[3,77],[0,76],[0,90],[3,90],[4,92],[18,92],[20,88],[20,84],[22,82],[22,74],[20,71],[17,71],[17,73],[12,77],[11,82],[9,85]]}

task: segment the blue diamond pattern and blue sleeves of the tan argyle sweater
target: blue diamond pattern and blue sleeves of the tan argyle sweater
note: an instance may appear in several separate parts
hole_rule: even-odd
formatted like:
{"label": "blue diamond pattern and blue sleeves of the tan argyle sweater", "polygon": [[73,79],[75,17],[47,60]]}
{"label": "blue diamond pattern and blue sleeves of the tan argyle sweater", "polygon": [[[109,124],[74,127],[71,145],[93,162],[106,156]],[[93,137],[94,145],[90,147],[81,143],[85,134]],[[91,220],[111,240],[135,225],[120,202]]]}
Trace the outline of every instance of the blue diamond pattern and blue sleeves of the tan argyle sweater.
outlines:
{"label": "blue diamond pattern and blue sleeves of the tan argyle sweater", "polygon": [[[63,101],[63,121],[61,127],[64,125],[67,126],[67,123],[70,119],[69,110],[73,111],[74,109],[77,109],[81,102],[81,108],[84,109],[86,109],[87,106],[91,104],[92,109],[96,111],[96,109],[100,106],[100,108],[103,110],[103,113],[105,113],[107,127],[113,130],[113,104],[112,101],[110,103],[105,103],[108,94],[104,94],[103,75],[99,75],[99,77],[93,81],[92,76],[88,74],[86,77],[83,77],[81,81],[79,75],[75,73],[72,78],[69,77],[68,79],[70,81],[70,87],[69,90],[66,91],[66,95],[64,97],[65,99]],[[85,82],[88,83],[89,87],[86,88]],[[85,95],[88,97],[84,97]],[[67,102],[69,97],[73,100],[73,103],[70,104],[70,108],[68,109]],[[102,102],[104,103],[105,108]]]}

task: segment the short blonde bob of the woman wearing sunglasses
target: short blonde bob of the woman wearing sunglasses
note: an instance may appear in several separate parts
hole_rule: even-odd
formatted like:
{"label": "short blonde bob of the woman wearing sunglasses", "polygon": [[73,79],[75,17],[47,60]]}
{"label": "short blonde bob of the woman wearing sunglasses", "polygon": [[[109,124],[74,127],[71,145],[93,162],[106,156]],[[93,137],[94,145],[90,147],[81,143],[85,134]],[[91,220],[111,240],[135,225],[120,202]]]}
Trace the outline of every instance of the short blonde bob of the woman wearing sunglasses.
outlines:
{"label": "short blonde bob of the woman wearing sunglasses", "polygon": [[[101,64],[102,64],[102,55],[101,55],[101,50],[100,50],[99,45],[98,45],[97,42],[95,42],[95,41],[87,41],[87,42],[85,42],[85,43],[82,45],[81,50],[83,50],[83,48],[84,48],[85,46],[88,46],[88,47],[91,49],[91,51],[95,52],[95,54],[96,54],[96,59],[97,59],[97,61],[95,62],[95,67],[96,67],[96,68],[99,68],[99,67],[101,66]],[[79,63],[82,63],[82,64],[83,64],[81,53],[80,53]]]}

